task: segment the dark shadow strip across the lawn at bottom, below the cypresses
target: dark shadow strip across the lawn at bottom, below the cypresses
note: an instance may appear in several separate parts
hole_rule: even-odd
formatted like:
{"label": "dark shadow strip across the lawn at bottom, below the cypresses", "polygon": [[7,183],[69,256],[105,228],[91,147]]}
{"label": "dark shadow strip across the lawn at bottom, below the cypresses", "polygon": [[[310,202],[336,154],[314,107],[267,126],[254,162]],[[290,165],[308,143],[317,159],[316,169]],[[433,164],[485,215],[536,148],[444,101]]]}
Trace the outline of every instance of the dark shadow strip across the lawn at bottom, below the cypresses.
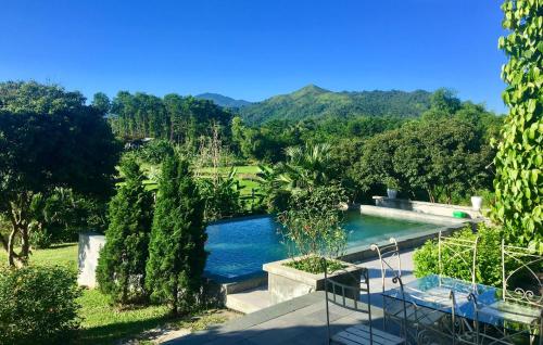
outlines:
{"label": "dark shadow strip across the lawn at bottom, below the cypresses", "polygon": [[111,323],[108,325],[81,329],[79,330],[76,344],[116,344],[122,338],[137,336],[147,330],[151,330],[177,319],[178,318],[167,315],[139,321]]}

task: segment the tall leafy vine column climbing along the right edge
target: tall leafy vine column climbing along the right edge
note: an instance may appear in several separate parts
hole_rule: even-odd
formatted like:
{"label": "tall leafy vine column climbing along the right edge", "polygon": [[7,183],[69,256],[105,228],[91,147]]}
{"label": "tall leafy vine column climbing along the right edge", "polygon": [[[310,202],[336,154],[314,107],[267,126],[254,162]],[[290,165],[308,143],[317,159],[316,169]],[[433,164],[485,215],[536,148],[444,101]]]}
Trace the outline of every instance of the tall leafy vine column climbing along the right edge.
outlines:
{"label": "tall leafy vine column climbing along the right edge", "polygon": [[500,48],[508,56],[502,78],[509,107],[494,159],[494,219],[507,241],[543,253],[543,5],[540,1],[506,0],[502,10],[507,37]]}

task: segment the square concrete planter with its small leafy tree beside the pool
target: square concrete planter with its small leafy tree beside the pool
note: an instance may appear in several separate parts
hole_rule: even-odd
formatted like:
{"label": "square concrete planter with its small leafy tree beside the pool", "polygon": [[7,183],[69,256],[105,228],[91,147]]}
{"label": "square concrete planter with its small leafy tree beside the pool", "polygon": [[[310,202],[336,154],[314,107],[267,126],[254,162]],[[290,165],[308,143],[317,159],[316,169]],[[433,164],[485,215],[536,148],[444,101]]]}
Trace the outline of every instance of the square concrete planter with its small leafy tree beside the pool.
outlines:
{"label": "square concrete planter with its small leafy tree beside the pool", "polygon": [[278,215],[290,258],[263,266],[268,272],[268,292],[274,302],[323,290],[323,259],[330,277],[345,284],[358,284],[362,269],[337,259],[346,246],[339,207],[346,199],[344,195],[334,186],[300,191],[292,196],[289,208]]}

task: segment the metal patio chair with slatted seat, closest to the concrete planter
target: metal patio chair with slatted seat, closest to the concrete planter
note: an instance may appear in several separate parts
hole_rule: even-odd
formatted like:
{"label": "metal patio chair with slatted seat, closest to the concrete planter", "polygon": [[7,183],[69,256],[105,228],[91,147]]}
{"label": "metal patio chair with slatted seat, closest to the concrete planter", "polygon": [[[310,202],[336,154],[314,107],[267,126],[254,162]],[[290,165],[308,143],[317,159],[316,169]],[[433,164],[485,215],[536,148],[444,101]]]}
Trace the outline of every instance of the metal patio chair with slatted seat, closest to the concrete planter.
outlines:
{"label": "metal patio chair with slatted seat, closest to the concrete planter", "polygon": [[[325,268],[325,297],[326,297],[326,325],[328,344],[345,344],[345,345],[396,345],[404,344],[404,340],[376,329],[371,324],[371,305],[369,295],[369,273],[367,268],[361,268],[356,273],[346,272],[350,274],[351,282],[355,284],[345,284],[340,278],[328,277],[328,267],[326,259],[323,259]],[[343,274],[342,274],[343,276]],[[359,276],[359,277],[357,277]],[[363,294],[367,295],[367,304],[361,302]],[[330,305],[336,305],[344,309],[366,315],[368,321],[364,324],[355,324],[346,328],[336,334],[331,334],[330,329]]]}

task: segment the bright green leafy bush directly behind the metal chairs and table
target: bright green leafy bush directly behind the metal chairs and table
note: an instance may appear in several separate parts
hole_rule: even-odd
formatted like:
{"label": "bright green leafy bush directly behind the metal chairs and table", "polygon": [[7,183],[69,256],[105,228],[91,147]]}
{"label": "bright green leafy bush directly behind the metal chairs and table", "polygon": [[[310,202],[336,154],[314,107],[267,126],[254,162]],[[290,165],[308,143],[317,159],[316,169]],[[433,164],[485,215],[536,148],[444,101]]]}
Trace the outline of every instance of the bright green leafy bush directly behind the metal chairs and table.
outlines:
{"label": "bright green leafy bush directly behind the metal chairs and table", "polygon": [[[479,225],[478,232],[473,233],[470,227],[453,234],[453,238],[475,240],[479,235],[477,245],[477,266],[476,282],[487,285],[501,286],[502,284],[502,256],[501,239],[502,231],[496,228],[489,228],[483,223]],[[415,276],[424,277],[427,274],[439,273],[439,252],[438,242],[428,241],[415,252]],[[470,281],[470,258],[463,261],[459,257],[453,257],[450,251],[443,251],[442,260],[443,274]]]}

